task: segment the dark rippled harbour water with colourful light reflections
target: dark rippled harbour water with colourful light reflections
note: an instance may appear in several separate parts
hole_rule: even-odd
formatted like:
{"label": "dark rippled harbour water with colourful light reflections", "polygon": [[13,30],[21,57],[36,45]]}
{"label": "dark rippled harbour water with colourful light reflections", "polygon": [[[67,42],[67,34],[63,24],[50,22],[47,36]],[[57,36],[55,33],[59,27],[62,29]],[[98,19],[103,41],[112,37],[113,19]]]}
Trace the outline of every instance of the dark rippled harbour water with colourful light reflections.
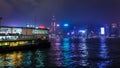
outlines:
{"label": "dark rippled harbour water with colourful light reflections", "polygon": [[52,40],[50,49],[0,54],[0,68],[120,68],[120,45]]}

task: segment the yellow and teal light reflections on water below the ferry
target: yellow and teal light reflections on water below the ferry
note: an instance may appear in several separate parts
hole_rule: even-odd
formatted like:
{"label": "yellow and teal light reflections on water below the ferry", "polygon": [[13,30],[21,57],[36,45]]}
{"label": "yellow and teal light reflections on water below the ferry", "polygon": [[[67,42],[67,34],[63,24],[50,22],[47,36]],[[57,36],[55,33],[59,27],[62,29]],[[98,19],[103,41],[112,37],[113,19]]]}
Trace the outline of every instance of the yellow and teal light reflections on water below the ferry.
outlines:
{"label": "yellow and teal light reflections on water below the ferry", "polygon": [[1,54],[0,55],[0,68],[10,67],[44,67],[44,54],[40,50],[36,50],[34,52],[13,52],[9,54]]}

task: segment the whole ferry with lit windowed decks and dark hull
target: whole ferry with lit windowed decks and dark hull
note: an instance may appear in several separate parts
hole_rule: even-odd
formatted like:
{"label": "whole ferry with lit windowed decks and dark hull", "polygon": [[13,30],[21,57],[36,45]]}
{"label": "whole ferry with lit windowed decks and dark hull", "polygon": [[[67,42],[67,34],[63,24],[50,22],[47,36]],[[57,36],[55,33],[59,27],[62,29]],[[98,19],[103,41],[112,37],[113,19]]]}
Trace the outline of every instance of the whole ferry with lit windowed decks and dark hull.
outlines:
{"label": "whole ferry with lit windowed decks and dark hull", "polygon": [[48,33],[46,28],[1,26],[0,49],[50,47]]}

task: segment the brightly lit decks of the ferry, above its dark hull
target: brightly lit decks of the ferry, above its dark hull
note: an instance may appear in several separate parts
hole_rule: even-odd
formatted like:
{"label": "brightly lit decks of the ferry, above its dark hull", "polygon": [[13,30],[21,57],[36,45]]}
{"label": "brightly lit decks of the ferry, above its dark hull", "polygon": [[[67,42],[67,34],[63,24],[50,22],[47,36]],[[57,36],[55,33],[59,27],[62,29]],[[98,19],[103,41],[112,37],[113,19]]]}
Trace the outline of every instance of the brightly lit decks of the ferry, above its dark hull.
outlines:
{"label": "brightly lit decks of the ferry, above its dark hull", "polygon": [[35,39],[48,40],[48,33],[48,29],[2,26],[0,28],[0,46],[35,44]]}

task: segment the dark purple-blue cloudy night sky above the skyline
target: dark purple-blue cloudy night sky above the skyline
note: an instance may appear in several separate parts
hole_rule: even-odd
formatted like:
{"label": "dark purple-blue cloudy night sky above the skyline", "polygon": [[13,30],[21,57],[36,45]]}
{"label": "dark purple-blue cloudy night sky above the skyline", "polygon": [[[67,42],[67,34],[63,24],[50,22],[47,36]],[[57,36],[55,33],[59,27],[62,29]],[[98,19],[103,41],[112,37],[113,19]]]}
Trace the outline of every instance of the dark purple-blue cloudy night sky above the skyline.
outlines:
{"label": "dark purple-blue cloudy night sky above the skyline", "polygon": [[0,0],[3,25],[48,26],[53,15],[60,24],[120,22],[120,0]]}

